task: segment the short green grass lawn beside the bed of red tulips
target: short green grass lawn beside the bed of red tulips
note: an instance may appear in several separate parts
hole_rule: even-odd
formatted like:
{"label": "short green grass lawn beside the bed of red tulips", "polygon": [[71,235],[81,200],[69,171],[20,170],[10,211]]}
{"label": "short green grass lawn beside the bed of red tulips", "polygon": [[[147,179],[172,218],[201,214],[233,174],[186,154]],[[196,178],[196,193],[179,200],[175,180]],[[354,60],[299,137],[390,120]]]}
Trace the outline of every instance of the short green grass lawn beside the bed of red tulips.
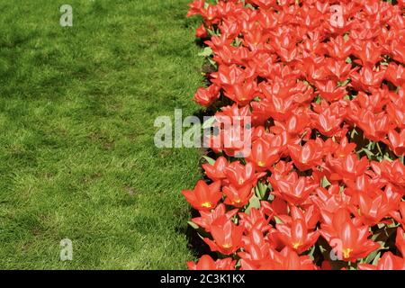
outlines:
{"label": "short green grass lawn beside the bed of red tulips", "polygon": [[[189,0],[0,0],[0,268],[175,269],[196,149],[154,120],[198,108]],[[61,4],[73,27],[59,26]],[[60,261],[59,241],[73,241]]]}

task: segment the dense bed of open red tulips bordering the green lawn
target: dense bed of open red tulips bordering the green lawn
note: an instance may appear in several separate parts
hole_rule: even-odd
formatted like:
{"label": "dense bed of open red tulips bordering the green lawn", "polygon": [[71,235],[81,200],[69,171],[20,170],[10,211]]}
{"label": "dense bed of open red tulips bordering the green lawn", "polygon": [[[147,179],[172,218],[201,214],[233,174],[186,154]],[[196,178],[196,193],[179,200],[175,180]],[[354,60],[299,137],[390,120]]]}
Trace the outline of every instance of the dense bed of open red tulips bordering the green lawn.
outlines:
{"label": "dense bed of open red tulips bordering the green lawn", "polygon": [[252,147],[211,147],[183,191],[212,251],[189,268],[405,269],[405,2],[190,7],[211,65],[194,100],[250,116]]}

